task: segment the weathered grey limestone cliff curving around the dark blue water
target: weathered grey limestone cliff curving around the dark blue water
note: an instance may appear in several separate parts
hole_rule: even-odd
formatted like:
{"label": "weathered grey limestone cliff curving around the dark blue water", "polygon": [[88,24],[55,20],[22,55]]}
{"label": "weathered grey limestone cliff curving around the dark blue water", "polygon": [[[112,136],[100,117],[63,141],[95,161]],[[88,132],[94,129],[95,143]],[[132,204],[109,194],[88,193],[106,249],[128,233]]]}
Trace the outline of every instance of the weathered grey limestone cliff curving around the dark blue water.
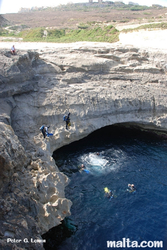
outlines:
{"label": "weathered grey limestone cliff curving around the dark blue water", "polygon": [[[116,123],[166,131],[166,54],[80,43],[15,56],[1,51],[0,62],[0,248],[43,249],[31,238],[40,241],[72,205],[53,151]],[[53,136],[43,138],[43,124]]]}

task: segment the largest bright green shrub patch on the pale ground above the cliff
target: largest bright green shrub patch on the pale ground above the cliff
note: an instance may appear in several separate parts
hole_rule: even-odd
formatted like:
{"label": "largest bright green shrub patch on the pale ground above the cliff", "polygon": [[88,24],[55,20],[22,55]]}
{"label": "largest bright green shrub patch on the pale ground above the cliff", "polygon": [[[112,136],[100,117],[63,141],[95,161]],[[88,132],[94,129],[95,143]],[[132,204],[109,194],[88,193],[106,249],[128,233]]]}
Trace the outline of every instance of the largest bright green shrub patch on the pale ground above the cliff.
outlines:
{"label": "largest bright green shrub patch on the pale ground above the cliff", "polygon": [[100,27],[82,27],[71,29],[47,29],[36,28],[32,30],[25,30],[18,34],[23,38],[23,41],[29,42],[78,42],[78,41],[92,41],[92,42],[116,42],[119,40],[119,31],[112,25]]}

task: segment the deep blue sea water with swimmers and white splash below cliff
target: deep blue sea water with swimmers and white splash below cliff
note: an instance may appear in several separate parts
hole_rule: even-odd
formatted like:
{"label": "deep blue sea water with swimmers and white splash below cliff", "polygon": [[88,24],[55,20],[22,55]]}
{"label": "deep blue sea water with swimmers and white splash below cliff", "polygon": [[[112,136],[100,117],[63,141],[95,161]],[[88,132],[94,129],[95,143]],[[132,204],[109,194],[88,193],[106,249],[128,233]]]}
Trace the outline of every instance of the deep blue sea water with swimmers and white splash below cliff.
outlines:
{"label": "deep blue sea water with swimmers and white splash below cliff", "polygon": [[[55,249],[105,250],[107,241],[122,238],[163,241],[167,249],[166,139],[110,126],[54,152],[54,158],[70,178],[65,192],[73,202],[70,219],[77,225]],[[89,173],[78,171],[81,164]],[[128,183],[135,184],[136,193],[127,192]],[[105,187],[113,199],[105,197]]]}

